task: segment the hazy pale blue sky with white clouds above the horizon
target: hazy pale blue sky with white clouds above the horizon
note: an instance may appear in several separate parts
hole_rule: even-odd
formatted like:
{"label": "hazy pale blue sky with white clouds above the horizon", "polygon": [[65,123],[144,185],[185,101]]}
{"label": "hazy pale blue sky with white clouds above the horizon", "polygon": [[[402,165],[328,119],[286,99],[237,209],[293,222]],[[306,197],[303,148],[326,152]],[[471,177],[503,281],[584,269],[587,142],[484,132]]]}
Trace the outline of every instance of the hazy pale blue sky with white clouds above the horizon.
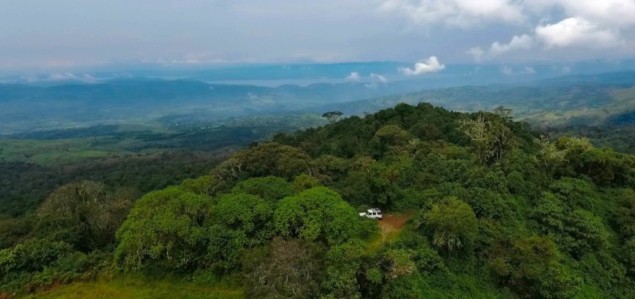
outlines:
{"label": "hazy pale blue sky with white clouds above the horizon", "polygon": [[635,58],[635,0],[0,0],[0,70]]}

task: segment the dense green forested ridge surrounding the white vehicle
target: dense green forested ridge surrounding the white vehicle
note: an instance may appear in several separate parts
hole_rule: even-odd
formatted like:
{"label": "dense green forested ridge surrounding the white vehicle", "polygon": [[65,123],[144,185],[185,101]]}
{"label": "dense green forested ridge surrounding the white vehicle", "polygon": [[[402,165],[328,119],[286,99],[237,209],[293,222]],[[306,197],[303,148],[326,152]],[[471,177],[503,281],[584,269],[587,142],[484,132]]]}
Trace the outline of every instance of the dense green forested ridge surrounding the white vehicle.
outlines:
{"label": "dense green forested ridge surrounding the white vehicle", "polygon": [[[250,298],[634,298],[634,187],[634,156],[508,109],[399,104],[142,196],[61,186],[0,220],[0,297],[135,274]],[[369,207],[409,220],[386,235]]]}

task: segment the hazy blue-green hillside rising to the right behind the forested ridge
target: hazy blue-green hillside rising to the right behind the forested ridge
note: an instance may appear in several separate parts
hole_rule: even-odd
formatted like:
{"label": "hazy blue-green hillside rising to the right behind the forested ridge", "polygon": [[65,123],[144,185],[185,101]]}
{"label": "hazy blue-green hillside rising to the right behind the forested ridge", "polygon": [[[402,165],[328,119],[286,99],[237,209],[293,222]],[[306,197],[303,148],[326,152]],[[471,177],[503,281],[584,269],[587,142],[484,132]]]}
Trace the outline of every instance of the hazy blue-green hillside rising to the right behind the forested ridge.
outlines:
{"label": "hazy blue-green hillside rising to the right behind the forested ridge", "polygon": [[458,111],[513,109],[516,119],[542,127],[630,122],[635,111],[635,72],[566,76],[522,85],[462,86],[328,104],[323,110],[363,114],[404,102],[429,102]]}

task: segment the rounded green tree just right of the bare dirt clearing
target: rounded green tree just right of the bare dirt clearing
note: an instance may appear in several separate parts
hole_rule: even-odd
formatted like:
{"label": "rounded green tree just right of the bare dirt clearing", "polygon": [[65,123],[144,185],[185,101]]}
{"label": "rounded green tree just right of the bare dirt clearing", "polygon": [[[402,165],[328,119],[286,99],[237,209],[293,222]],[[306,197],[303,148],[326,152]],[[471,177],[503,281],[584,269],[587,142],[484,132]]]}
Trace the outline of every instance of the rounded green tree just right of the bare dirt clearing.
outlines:
{"label": "rounded green tree just right of the bare dirt clearing", "polygon": [[432,244],[447,251],[469,244],[478,233],[474,211],[456,198],[434,205],[424,214],[424,223],[432,232]]}

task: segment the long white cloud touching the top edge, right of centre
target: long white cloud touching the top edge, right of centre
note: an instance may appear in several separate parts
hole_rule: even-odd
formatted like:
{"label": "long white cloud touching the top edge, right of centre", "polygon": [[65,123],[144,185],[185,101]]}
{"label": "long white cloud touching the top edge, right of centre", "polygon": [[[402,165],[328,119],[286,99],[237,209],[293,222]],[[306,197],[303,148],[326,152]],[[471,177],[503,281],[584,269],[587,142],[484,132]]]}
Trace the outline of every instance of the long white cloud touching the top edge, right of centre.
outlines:
{"label": "long white cloud touching the top edge, right of centre", "polygon": [[521,23],[522,7],[512,0],[383,0],[380,10],[397,12],[415,24],[469,28],[481,23]]}

